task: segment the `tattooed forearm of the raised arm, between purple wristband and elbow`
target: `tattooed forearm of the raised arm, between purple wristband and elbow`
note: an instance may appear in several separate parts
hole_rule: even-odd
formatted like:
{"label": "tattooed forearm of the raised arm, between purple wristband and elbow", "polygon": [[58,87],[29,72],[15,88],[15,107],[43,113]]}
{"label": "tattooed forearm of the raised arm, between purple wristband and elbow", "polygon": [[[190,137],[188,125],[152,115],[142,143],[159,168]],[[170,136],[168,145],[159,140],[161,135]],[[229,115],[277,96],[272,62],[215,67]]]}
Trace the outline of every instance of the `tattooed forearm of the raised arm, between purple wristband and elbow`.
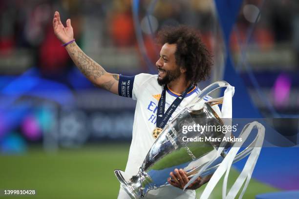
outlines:
{"label": "tattooed forearm of the raised arm, between purple wristband and elbow", "polygon": [[72,60],[87,78],[93,78],[96,81],[106,73],[104,68],[85,55],[75,42],[69,44],[67,50]]}

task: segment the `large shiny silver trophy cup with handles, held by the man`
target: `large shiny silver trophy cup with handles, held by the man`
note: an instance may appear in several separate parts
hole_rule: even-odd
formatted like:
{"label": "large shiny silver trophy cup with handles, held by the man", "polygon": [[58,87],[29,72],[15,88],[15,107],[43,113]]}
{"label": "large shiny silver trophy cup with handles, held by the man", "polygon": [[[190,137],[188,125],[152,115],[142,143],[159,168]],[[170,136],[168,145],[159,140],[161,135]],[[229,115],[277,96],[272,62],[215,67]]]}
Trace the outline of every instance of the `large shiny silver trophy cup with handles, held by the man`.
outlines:
{"label": "large shiny silver trophy cup with handles, held by the man", "polygon": [[[117,179],[131,199],[144,198],[149,190],[168,186],[167,179],[169,178],[169,173],[175,168],[183,168],[187,172],[188,178],[191,178],[214,157],[219,147],[224,146],[228,149],[234,144],[232,142],[215,141],[217,139],[211,141],[186,141],[186,136],[193,140],[205,137],[220,138],[218,140],[222,140],[226,136],[224,133],[214,129],[205,132],[191,131],[188,134],[182,132],[182,126],[184,125],[224,125],[223,120],[218,117],[212,108],[213,105],[222,103],[223,98],[210,100],[205,103],[203,103],[203,98],[214,90],[227,86],[229,84],[225,81],[217,81],[211,84],[202,90],[189,106],[181,110],[165,126],[160,136],[155,140],[142,166],[139,168],[139,172],[135,176],[132,176],[127,181],[122,175],[123,171],[114,171]],[[242,132],[245,130],[246,126]],[[252,146],[255,141],[256,139],[237,154],[234,162],[246,157],[253,149]],[[227,150],[224,150],[221,156],[205,169],[201,176],[204,177],[214,173],[226,154]]]}

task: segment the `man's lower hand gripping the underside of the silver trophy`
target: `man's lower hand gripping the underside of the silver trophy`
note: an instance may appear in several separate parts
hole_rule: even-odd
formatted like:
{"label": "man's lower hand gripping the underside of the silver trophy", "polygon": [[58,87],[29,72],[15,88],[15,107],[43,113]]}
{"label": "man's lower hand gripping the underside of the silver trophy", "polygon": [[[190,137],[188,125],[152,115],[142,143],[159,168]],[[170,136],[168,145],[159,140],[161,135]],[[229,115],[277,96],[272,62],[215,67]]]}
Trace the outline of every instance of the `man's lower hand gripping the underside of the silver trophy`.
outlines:
{"label": "man's lower hand gripping the underside of the silver trophy", "polygon": [[[169,178],[167,181],[172,186],[178,187],[180,189],[184,189],[185,185],[189,182],[189,179],[187,177],[187,172],[183,169],[174,169],[174,172],[170,173],[171,178]],[[186,189],[197,189],[201,185],[203,185],[204,182],[201,177],[198,177],[194,182],[192,182]]]}

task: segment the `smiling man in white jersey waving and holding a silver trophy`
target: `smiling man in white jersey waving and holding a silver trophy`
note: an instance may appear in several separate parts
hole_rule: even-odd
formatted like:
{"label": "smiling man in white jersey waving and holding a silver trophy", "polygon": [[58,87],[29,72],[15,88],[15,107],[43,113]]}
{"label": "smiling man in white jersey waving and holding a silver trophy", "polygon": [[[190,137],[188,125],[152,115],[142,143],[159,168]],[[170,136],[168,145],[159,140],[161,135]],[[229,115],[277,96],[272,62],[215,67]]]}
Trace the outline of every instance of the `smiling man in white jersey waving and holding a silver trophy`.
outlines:
{"label": "smiling man in white jersey waving and holding a silver trophy", "polygon": [[[70,19],[66,20],[64,27],[59,13],[55,12],[53,28],[71,59],[88,80],[111,93],[137,100],[132,142],[125,171],[127,177],[136,175],[166,123],[199,93],[196,82],[209,76],[213,64],[209,51],[192,29],[186,26],[169,27],[160,31],[158,35],[159,43],[163,44],[156,62],[158,75],[139,74],[126,77],[106,72],[101,65],[85,55],[74,41]],[[176,108],[169,109],[172,105]],[[220,115],[219,108],[215,107],[215,111]],[[189,179],[185,171],[175,169],[168,179],[172,186],[151,190],[147,198],[194,199],[194,189],[210,178],[211,176],[198,178],[188,190],[183,191]],[[122,188],[118,198],[129,199]]]}

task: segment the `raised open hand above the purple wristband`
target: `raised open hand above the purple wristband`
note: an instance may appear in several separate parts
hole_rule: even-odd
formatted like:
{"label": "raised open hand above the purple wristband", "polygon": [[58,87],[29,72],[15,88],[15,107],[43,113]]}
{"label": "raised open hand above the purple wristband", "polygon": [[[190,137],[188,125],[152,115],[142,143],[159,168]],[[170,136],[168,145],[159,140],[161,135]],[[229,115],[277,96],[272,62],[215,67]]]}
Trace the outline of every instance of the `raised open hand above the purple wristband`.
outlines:
{"label": "raised open hand above the purple wristband", "polygon": [[60,20],[60,14],[57,11],[55,12],[53,18],[53,29],[56,37],[62,43],[67,43],[74,39],[74,32],[70,19],[66,20],[66,27],[64,27]]}

